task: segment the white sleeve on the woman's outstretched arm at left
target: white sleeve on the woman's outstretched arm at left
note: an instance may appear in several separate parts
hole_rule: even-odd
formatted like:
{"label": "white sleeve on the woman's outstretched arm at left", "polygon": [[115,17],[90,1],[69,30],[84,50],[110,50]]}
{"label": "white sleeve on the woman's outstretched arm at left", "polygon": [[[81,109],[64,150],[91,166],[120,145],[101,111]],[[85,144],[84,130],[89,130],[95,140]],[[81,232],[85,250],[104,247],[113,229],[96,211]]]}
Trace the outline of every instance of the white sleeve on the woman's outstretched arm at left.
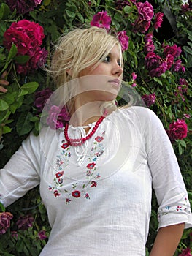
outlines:
{"label": "white sleeve on the woman's outstretched arm at left", "polygon": [[39,141],[30,135],[0,170],[0,201],[5,207],[39,184]]}

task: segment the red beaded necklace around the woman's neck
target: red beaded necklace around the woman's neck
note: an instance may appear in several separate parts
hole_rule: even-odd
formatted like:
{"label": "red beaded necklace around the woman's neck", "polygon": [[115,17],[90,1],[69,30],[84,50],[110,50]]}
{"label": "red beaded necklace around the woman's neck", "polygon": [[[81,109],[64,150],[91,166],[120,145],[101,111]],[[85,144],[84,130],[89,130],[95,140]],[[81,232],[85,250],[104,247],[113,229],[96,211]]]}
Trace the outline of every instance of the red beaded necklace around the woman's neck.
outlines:
{"label": "red beaded necklace around the woman's neck", "polygon": [[101,121],[103,121],[103,120],[104,120],[104,116],[101,116],[99,118],[99,120],[96,121],[96,124],[93,127],[92,131],[87,136],[85,136],[84,138],[79,138],[79,139],[70,139],[69,138],[69,136],[68,136],[69,124],[66,123],[65,129],[64,129],[64,135],[65,135],[65,138],[66,138],[66,141],[67,141],[66,147],[68,147],[69,145],[71,145],[71,146],[80,146],[83,143],[85,143],[86,140],[88,140],[89,138],[91,138],[93,136],[93,134],[96,132],[96,129],[99,127],[99,124],[101,124]]}

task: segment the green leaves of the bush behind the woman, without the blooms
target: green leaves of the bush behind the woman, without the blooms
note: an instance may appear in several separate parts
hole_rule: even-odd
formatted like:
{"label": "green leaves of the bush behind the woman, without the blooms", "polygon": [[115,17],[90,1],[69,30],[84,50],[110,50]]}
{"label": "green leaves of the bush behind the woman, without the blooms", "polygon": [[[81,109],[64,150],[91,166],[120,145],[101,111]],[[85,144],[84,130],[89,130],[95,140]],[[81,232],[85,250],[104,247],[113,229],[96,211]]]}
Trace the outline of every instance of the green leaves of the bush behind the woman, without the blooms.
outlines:
{"label": "green leaves of the bush behind the woman, without the blooms", "polygon": [[[5,2],[0,0],[0,75],[7,70],[7,80],[9,80],[10,84],[7,86],[7,93],[0,93],[0,138],[2,135],[0,148],[3,156],[0,158],[1,167],[15,153],[30,132],[38,135],[40,116],[34,107],[35,93],[47,87],[53,89],[52,81],[42,69],[34,70],[28,75],[18,75],[15,71],[15,63],[26,63],[28,56],[17,56],[17,48],[14,44],[12,44],[12,48],[9,51],[4,48],[4,32],[12,22],[24,18],[33,20],[44,28],[45,39],[43,45],[50,52],[52,45],[61,34],[66,34],[74,27],[89,26],[94,14],[106,10],[107,14],[112,18],[112,29],[114,31],[126,30],[129,37],[128,50],[123,53],[125,60],[123,80],[126,81],[127,87],[130,87],[134,82],[137,83],[135,89],[141,96],[155,92],[155,104],[150,108],[158,115],[166,129],[177,118],[183,119],[184,114],[192,114],[192,15],[191,12],[181,13],[182,1],[169,1],[168,9],[172,12],[176,23],[176,30],[172,37],[169,37],[169,31],[172,32],[172,28],[168,31],[168,37],[166,35],[166,38],[162,39],[162,34],[164,35],[166,28],[162,27],[155,31],[153,24],[148,32],[154,32],[155,53],[160,56],[162,56],[163,51],[162,43],[165,45],[174,45],[176,43],[177,46],[182,47],[182,61],[186,72],[167,70],[160,77],[154,78],[151,78],[145,69],[145,35],[132,29],[132,23],[137,19],[137,8],[134,4],[131,4],[131,1],[130,6],[127,5],[122,10],[117,10],[115,7],[116,1],[112,0],[93,0],[90,1],[91,5],[86,0],[44,0],[34,11],[26,13],[26,15],[18,15],[16,10],[11,12]],[[155,3],[157,6],[155,12],[164,12],[165,7],[167,7],[167,1],[155,1]],[[49,64],[50,56],[47,57],[47,65]],[[131,76],[133,72],[137,73],[135,81],[132,80]],[[185,78],[188,81],[188,89],[183,94],[183,98],[178,91],[180,78]],[[123,98],[125,97],[123,95]],[[124,103],[120,97],[118,102],[119,104]],[[188,124],[188,136],[184,140],[177,140],[173,146],[188,189],[189,199],[192,203],[191,118],[185,118],[185,121]],[[156,217],[158,206],[154,196],[152,206],[146,255],[149,255],[158,227]],[[1,205],[0,210],[5,211]],[[25,197],[9,206],[6,211],[10,211],[14,215],[14,219],[12,219],[11,228],[7,233],[0,236],[0,255],[39,255],[47,240],[39,240],[37,233],[40,230],[46,230],[48,236],[50,232],[47,213],[39,197],[39,189],[31,190]],[[15,238],[12,235],[12,231],[15,230],[15,221],[20,215],[29,213],[35,219],[33,227],[25,231],[17,230],[18,238]],[[185,230],[175,256],[179,255],[182,249],[187,246],[192,249],[190,233],[191,230]]]}

